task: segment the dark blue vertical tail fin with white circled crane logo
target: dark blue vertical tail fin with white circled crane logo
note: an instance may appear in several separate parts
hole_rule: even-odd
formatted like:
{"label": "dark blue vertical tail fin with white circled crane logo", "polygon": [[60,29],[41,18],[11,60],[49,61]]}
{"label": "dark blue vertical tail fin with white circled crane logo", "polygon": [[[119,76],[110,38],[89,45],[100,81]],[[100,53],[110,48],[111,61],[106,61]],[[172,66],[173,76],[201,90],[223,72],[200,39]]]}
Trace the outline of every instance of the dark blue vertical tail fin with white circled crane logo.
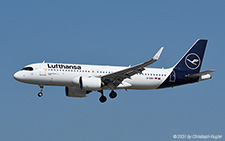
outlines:
{"label": "dark blue vertical tail fin with white circled crane logo", "polygon": [[187,51],[187,53],[180,59],[180,61],[174,66],[174,70],[189,72],[190,74],[199,73],[206,44],[207,40],[197,40]]}

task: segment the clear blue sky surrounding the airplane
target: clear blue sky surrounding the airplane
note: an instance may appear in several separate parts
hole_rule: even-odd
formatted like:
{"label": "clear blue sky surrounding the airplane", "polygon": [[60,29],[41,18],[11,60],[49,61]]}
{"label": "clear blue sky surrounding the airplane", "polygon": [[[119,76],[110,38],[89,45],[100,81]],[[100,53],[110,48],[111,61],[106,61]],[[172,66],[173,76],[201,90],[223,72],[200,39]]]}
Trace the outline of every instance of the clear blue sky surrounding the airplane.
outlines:
{"label": "clear blue sky surrounding the airplane", "polygon": [[[225,136],[224,1],[1,1],[0,140],[173,140]],[[135,65],[164,46],[150,67],[171,67],[199,38],[208,39],[202,71],[213,79],[161,90],[119,90],[68,98],[64,87],[13,79],[42,62]],[[108,96],[109,91],[105,91]]]}

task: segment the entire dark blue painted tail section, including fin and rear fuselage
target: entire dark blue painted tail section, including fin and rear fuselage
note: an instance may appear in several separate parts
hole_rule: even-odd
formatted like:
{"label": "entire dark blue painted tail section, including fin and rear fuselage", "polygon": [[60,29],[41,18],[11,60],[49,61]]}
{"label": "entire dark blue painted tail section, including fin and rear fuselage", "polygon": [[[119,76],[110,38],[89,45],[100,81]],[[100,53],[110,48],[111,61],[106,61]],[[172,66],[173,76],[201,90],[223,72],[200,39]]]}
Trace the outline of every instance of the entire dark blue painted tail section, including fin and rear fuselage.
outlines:
{"label": "entire dark blue painted tail section, including fin and rear fuselage", "polygon": [[172,72],[159,88],[174,87],[188,83],[198,82],[198,77],[188,78],[198,74],[202,65],[207,40],[199,39],[185,53],[185,55],[172,68]]}

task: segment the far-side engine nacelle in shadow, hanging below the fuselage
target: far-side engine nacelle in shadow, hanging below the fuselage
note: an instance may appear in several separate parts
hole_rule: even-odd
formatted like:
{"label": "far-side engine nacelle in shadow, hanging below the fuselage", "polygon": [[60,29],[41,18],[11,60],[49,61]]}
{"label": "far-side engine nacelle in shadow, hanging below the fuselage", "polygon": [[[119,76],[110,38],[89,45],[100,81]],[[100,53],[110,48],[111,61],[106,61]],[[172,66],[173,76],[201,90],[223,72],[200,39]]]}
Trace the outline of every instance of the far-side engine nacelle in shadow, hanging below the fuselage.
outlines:
{"label": "far-side engine nacelle in shadow, hanging below the fuselage", "polygon": [[81,90],[76,87],[65,87],[66,96],[68,97],[86,97],[86,94],[90,93],[91,91]]}

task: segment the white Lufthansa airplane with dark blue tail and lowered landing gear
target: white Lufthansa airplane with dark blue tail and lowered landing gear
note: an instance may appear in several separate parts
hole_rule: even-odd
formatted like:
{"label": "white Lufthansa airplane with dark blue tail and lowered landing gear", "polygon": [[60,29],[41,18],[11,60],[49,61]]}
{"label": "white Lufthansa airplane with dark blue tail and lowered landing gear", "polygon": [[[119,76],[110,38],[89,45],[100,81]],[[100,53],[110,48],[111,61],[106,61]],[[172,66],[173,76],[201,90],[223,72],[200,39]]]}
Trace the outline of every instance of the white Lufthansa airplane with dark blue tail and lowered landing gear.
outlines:
{"label": "white Lufthansa airplane with dark blue tail and lowered landing gear", "polygon": [[99,101],[107,97],[103,90],[111,90],[109,97],[117,97],[115,90],[150,90],[175,87],[211,79],[215,70],[200,72],[208,40],[198,39],[184,56],[171,68],[146,68],[156,62],[164,47],[154,57],[138,65],[103,66],[63,63],[34,63],[14,74],[17,81],[39,85],[38,96],[44,86],[64,86],[68,97],[86,97],[92,91],[101,93]]}

